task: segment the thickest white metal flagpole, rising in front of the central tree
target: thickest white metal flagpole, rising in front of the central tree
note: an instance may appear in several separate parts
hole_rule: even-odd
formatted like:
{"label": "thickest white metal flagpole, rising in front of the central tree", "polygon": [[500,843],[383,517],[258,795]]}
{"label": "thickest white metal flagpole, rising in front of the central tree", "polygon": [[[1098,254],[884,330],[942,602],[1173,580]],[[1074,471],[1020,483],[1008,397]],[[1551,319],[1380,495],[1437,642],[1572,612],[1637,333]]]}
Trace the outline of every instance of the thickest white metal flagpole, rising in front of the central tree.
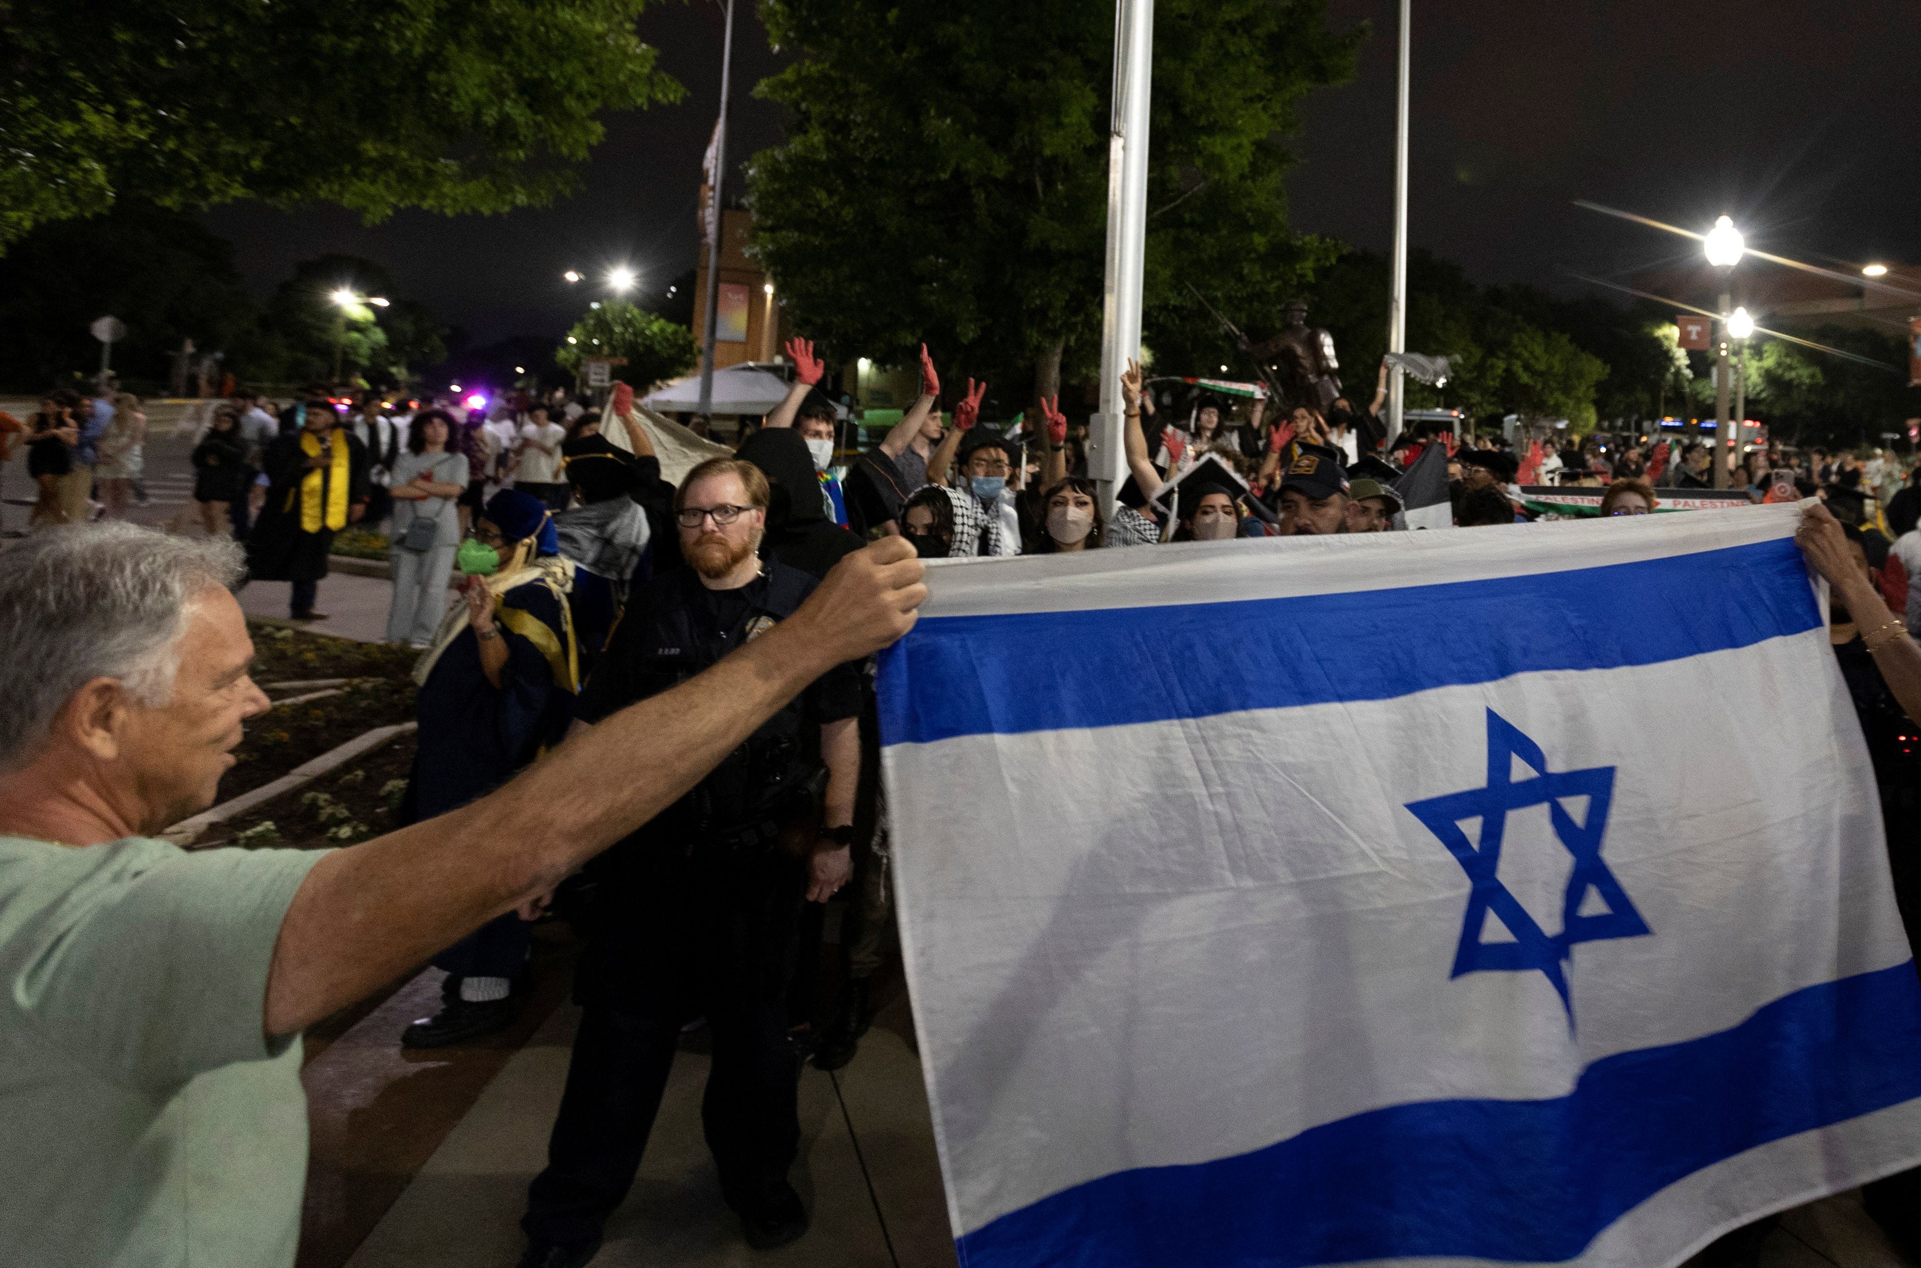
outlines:
{"label": "thickest white metal flagpole, rising in front of the central tree", "polygon": [[1155,86],[1155,0],[1114,6],[1114,113],[1106,140],[1106,290],[1101,305],[1101,413],[1093,417],[1087,475],[1103,513],[1128,480],[1120,373],[1141,355],[1141,273],[1147,254],[1147,117]]}

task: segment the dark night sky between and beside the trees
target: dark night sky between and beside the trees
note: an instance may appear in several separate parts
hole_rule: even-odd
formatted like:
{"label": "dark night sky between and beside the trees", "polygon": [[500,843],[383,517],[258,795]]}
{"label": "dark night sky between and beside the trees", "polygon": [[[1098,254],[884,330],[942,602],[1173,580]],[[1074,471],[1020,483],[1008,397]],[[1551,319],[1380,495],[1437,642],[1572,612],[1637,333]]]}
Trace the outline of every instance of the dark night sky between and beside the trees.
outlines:
{"label": "dark night sky between and beside the trees", "polygon": [[[1293,223],[1385,252],[1395,123],[1393,0],[1329,0],[1374,21],[1354,83],[1310,98],[1295,142]],[[738,12],[732,158],[780,140],[749,96],[780,67]],[[542,211],[363,227],[344,211],[234,206],[207,223],[267,294],[327,252],[386,265],[401,294],[486,342],[557,334],[586,298],[561,271],[630,261],[649,290],[693,265],[701,154],[720,83],[713,0],[640,23],[680,79],[680,106],[613,115],[576,198]],[[1754,246],[1813,259],[1921,259],[1921,108],[1909,102],[1911,0],[1452,0],[1414,4],[1410,232],[1481,282],[1577,286],[1560,267],[1625,275],[1692,259],[1694,242],[1581,211],[1589,198],[1675,225],[1735,217]],[[738,171],[738,167],[736,167]]]}

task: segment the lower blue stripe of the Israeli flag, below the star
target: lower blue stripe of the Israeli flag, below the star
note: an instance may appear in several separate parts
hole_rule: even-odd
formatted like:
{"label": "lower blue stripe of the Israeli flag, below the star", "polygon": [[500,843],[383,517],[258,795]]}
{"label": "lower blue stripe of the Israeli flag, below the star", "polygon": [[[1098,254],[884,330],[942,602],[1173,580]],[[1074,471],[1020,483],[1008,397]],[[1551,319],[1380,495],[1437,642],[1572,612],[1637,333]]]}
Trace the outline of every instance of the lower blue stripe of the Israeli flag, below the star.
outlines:
{"label": "lower blue stripe of the Israeli flag, below the star", "polygon": [[1235,1158],[1118,1172],[957,1247],[964,1268],[1556,1262],[1683,1176],[1915,1097],[1909,961],[1794,991],[1733,1030],[1606,1057],[1568,1097],[1395,1105]]}

